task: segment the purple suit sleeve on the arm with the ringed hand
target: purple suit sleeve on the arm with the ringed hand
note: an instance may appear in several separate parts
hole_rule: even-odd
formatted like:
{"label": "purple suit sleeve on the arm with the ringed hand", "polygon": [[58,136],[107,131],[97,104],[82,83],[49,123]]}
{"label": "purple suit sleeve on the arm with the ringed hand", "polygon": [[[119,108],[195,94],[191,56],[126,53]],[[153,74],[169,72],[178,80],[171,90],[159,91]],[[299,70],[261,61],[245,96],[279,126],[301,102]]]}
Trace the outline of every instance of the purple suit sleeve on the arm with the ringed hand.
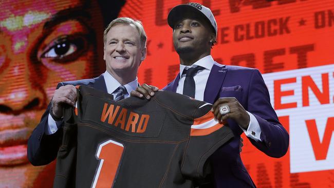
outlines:
{"label": "purple suit sleeve on the arm with the ringed hand", "polygon": [[261,140],[251,143],[270,157],[283,157],[288,151],[289,134],[279,122],[276,112],[270,104],[267,86],[261,73],[254,69],[248,91],[248,109],[261,127]]}

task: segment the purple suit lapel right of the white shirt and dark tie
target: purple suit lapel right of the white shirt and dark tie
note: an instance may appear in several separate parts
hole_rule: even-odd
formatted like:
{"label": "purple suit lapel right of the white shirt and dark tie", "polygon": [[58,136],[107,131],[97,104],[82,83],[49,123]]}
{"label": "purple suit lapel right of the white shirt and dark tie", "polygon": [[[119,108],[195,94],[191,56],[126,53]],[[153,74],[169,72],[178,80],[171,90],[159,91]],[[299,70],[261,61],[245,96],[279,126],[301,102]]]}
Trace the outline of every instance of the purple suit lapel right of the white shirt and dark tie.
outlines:
{"label": "purple suit lapel right of the white shirt and dark tie", "polygon": [[226,66],[213,65],[204,91],[204,101],[213,104],[227,73]]}

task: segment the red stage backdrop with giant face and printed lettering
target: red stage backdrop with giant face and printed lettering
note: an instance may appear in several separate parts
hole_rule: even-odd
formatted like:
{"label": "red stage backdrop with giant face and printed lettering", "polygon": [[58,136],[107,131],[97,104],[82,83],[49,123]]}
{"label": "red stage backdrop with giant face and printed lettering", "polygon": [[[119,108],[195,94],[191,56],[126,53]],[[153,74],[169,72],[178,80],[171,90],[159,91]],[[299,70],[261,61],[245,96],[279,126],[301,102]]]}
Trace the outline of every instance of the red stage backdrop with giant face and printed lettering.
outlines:
{"label": "red stage backdrop with giant face and printed lettering", "polygon": [[[54,163],[30,165],[27,139],[58,82],[104,72],[102,32],[118,12],[141,20],[148,37],[139,82],[162,88],[178,73],[166,18],[172,7],[190,1],[83,2],[0,2],[0,187],[52,184]],[[290,134],[280,159],[243,137],[242,158],[257,187],[334,187],[334,1],[196,3],[217,21],[214,60],[259,69]]]}

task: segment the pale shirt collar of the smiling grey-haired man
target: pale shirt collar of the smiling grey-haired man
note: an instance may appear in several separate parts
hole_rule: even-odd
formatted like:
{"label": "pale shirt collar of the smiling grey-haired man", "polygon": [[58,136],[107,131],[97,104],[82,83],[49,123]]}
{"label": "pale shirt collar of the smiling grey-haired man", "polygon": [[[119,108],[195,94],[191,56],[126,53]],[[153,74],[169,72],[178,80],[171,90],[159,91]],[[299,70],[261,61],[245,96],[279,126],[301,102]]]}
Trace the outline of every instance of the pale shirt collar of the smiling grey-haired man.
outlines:
{"label": "pale shirt collar of the smiling grey-haired man", "polygon": [[[109,94],[113,93],[119,86],[121,86],[121,84],[108,71],[104,72],[103,77]],[[136,77],[134,81],[125,84],[124,87],[128,94],[131,91],[136,90],[138,87],[138,78]]]}

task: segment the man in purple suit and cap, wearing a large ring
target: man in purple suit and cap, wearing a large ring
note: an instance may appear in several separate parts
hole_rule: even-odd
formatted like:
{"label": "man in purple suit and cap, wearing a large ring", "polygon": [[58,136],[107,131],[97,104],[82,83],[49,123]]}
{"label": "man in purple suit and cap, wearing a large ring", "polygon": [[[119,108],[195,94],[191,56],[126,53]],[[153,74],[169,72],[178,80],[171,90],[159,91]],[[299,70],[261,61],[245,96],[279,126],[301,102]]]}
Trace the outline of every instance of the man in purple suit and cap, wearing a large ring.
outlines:
{"label": "man in purple suit and cap, wearing a large ring", "polygon": [[[257,69],[220,65],[213,61],[217,24],[211,10],[197,3],[178,5],[168,15],[180,73],[163,90],[213,104],[218,121],[227,121],[234,139],[210,158],[216,187],[255,187],[239,154],[240,135],[270,157],[286,154],[289,135],[270,104],[269,92]],[[142,85],[132,95],[147,99],[154,86]]]}

